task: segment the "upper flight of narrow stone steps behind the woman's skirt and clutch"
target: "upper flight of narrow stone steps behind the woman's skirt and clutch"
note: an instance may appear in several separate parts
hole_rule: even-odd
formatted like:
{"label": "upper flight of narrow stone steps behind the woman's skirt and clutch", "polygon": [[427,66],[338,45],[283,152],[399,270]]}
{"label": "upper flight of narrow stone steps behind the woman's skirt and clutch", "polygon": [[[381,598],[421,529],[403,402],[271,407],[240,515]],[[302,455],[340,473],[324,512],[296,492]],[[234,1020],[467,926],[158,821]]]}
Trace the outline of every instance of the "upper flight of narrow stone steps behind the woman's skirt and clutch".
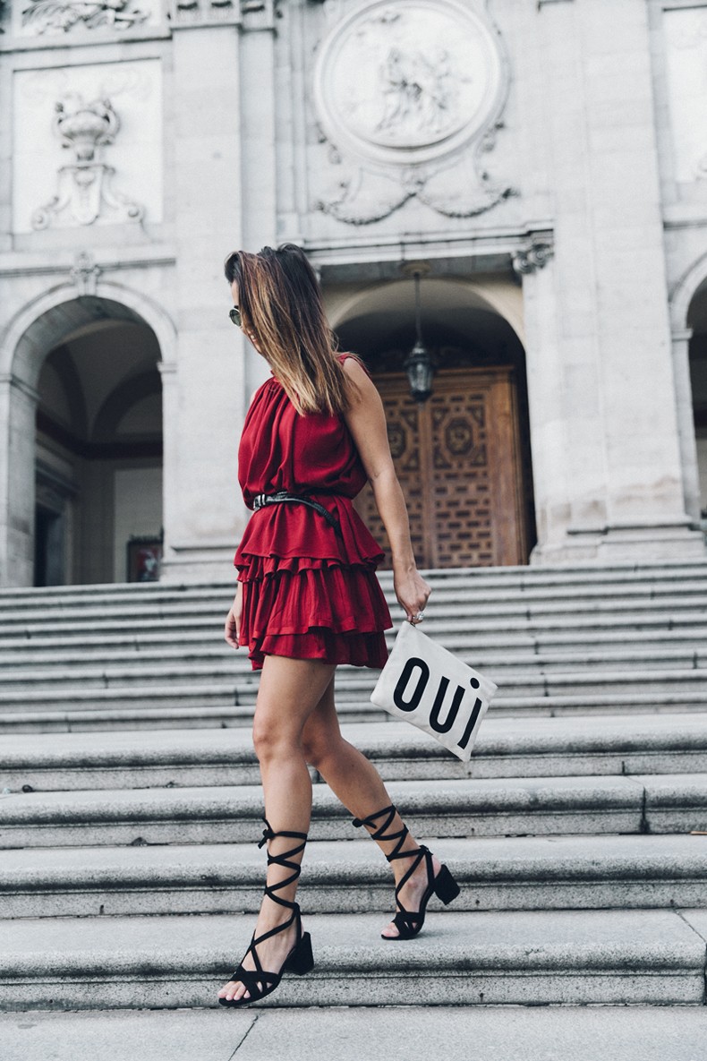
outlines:
{"label": "upper flight of narrow stone steps behind the woman's skirt and clutch", "polygon": [[[432,581],[425,629],[497,680],[496,715],[704,709],[707,563]],[[225,585],[0,591],[0,727],[246,725],[258,683],[220,637],[231,598]],[[344,720],[383,717],[370,689],[341,672]]]}

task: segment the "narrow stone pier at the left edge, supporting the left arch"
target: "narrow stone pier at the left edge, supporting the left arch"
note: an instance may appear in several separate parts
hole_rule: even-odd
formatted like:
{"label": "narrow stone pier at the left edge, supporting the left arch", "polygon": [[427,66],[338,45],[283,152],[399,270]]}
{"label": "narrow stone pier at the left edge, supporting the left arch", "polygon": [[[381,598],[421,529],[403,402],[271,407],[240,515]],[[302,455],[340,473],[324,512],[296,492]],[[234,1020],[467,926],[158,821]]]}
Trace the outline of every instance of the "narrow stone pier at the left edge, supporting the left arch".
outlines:
{"label": "narrow stone pier at the left edge, supporting the left arch", "polygon": [[0,380],[0,586],[34,582],[35,411],[38,395],[7,376]]}

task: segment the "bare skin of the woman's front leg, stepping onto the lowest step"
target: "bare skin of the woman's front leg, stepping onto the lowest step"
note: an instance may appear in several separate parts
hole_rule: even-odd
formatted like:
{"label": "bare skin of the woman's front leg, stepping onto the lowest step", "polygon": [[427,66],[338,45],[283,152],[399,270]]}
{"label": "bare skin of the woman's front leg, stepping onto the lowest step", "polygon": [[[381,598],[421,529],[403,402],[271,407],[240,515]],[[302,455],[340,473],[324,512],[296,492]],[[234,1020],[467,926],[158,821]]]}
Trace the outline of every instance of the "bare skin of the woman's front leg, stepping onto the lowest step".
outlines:
{"label": "bare skin of the woman's front leg, stepping onto the lowest step", "polygon": [[[293,660],[282,656],[266,656],[261,675],[255,714],[253,744],[260,761],[265,796],[265,817],[275,833],[307,833],[312,817],[312,782],[302,750],[302,730],[317,708],[324,690],[332,683],[334,666],[316,660]],[[271,854],[284,854],[297,847],[298,840],[277,837],[269,840]],[[302,853],[290,859],[298,865]],[[272,886],[291,875],[282,866],[269,866],[267,884]],[[278,895],[295,901],[297,881],[278,890]],[[289,911],[268,897],[263,899],[255,924],[255,936],[284,924]],[[278,972],[296,942],[295,924],[286,932],[265,940],[258,947],[263,969]],[[254,969],[248,954],[245,969]],[[238,999],[248,996],[245,985],[229,980],[218,992],[219,998]]]}

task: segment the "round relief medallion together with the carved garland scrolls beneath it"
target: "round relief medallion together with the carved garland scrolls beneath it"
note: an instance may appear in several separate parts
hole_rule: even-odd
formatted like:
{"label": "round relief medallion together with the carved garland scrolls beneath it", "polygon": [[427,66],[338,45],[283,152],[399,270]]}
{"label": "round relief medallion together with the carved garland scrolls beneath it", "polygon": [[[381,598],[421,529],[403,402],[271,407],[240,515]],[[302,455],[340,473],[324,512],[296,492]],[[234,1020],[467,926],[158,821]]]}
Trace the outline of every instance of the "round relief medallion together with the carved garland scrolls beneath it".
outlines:
{"label": "round relief medallion together with the carved garland scrolls beneath it", "polygon": [[338,170],[319,208],[350,224],[378,221],[412,196],[447,216],[488,210],[511,193],[481,162],[507,85],[499,35],[472,4],[359,7],[317,57],[314,103]]}

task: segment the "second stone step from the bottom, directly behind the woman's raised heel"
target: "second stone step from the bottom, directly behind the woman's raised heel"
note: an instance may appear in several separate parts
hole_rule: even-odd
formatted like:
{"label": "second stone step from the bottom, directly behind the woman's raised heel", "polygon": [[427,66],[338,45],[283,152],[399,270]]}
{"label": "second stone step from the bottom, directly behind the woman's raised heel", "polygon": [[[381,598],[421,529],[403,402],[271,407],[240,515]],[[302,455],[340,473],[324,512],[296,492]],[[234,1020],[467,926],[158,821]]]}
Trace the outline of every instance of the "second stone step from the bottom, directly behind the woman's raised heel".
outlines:
{"label": "second stone step from the bottom, directly behind the woman's raised heel", "polygon": [[[705,836],[420,840],[459,884],[456,912],[707,907]],[[0,906],[6,918],[255,914],[264,872],[254,843],[5,851]],[[311,914],[394,909],[370,839],[310,843],[302,880]]]}

